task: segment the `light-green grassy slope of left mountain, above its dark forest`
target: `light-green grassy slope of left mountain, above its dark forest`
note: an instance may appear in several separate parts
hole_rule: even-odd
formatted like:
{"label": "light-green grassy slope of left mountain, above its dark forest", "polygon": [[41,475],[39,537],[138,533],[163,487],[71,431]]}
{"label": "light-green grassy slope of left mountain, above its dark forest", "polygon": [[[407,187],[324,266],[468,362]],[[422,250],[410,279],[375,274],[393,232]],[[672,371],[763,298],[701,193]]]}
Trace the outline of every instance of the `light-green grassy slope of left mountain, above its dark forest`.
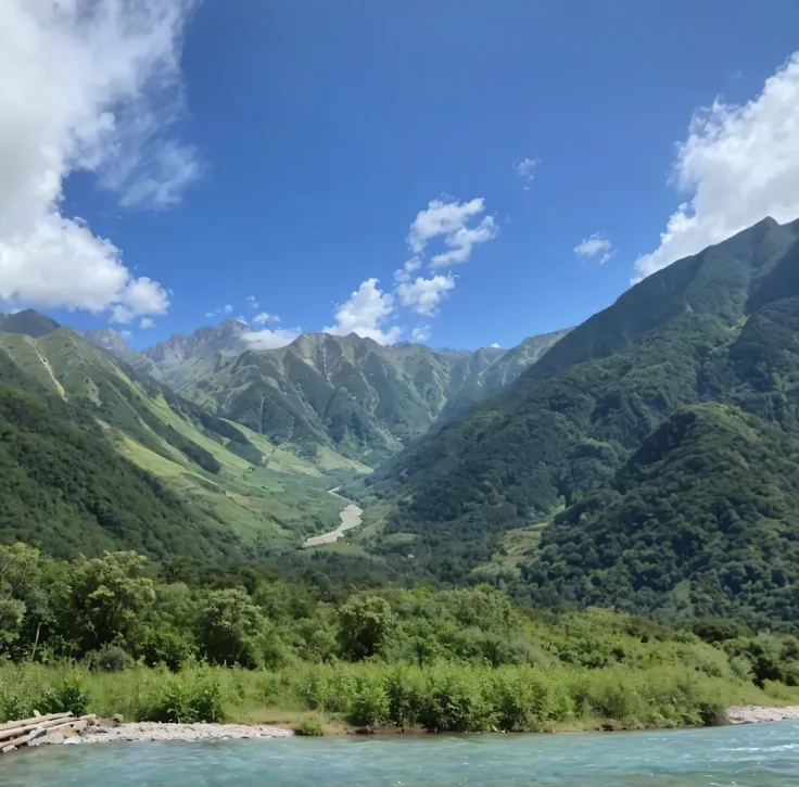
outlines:
{"label": "light-green grassy slope of left mountain, above its dark forest", "polygon": [[[189,554],[201,550],[213,559],[295,548],[307,535],[338,524],[342,504],[326,491],[366,470],[333,452],[316,465],[287,454],[262,435],[178,396],[69,328],[58,327],[38,339],[0,333],[0,351],[7,358],[9,382],[31,395],[43,395],[56,421],[72,420],[81,430],[90,424],[92,440],[102,429],[105,447],[113,446],[117,461],[125,457],[147,478],[157,478],[165,494],[190,509],[190,513],[181,509],[180,521],[187,523],[183,537],[191,541],[192,528],[203,526],[210,541],[194,538],[198,546]],[[55,401],[63,405],[58,411]],[[76,420],[76,414],[83,420]],[[35,457],[50,453],[47,444],[34,440],[37,429],[31,428],[23,441]],[[49,483],[47,475],[40,480]],[[28,521],[33,528],[36,517]],[[160,526],[157,532],[162,530],[168,529]],[[3,537],[23,532],[10,525],[4,531]],[[131,524],[113,543],[155,555],[185,551],[177,535],[151,544],[136,533]],[[30,537],[51,550],[66,548],[61,536],[53,534],[52,543],[48,542],[45,531]],[[78,541],[94,543],[83,536]],[[110,543],[109,538],[96,541],[98,549]]]}

